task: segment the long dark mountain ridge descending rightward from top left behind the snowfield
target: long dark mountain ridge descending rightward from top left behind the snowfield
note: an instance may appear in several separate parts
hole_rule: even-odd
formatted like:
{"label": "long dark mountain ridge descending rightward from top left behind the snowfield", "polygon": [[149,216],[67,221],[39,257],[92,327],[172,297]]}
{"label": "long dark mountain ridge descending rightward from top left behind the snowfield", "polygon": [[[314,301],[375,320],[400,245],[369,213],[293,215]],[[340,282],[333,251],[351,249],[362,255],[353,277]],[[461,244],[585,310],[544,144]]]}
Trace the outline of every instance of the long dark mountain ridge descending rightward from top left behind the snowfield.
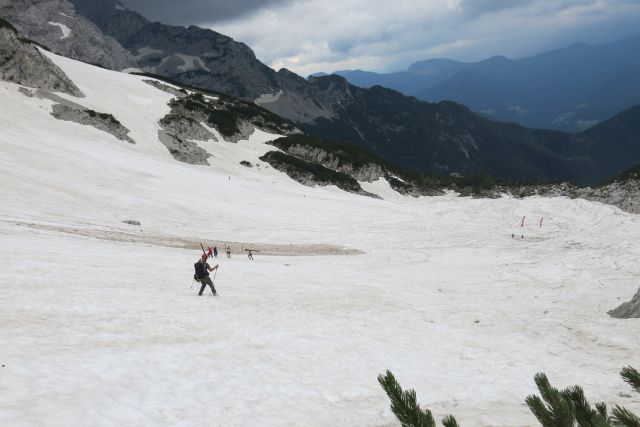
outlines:
{"label": "long dark mountain ridge descending rightward from top left behind the snowfield", "polygon": [[[397,166],[583,184],[626,167],[613,162],[607,172],[592,173],[602,169],[593,166],[601,159],[585,157],[583,146],[569,135],[491,122],[451,103],[357,88],[337,76],[304,79],[285,69],[275,72],[246,45],[214,31],[151,23],[116,0],[72,3],[129,49],[138,68],[255,101],[311,135],[371,149]],[[440,64],[443,70],[451,67],[455,64]],[[432,70],[424,66],[422,72]]]}

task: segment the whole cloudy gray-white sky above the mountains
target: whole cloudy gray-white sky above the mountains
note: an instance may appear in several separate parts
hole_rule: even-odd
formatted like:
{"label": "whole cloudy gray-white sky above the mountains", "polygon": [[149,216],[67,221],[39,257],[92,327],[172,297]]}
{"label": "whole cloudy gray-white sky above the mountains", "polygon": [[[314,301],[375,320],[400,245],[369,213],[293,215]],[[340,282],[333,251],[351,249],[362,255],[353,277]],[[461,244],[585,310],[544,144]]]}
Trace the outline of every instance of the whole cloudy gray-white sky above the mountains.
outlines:
{"label": "whole cloudy gray-white sky above the mountains", "polygon": [[519,58],[640,33],[640,0],[121,0],[149,19],[211,28],[301,75],[388,72],[445,57]]}

